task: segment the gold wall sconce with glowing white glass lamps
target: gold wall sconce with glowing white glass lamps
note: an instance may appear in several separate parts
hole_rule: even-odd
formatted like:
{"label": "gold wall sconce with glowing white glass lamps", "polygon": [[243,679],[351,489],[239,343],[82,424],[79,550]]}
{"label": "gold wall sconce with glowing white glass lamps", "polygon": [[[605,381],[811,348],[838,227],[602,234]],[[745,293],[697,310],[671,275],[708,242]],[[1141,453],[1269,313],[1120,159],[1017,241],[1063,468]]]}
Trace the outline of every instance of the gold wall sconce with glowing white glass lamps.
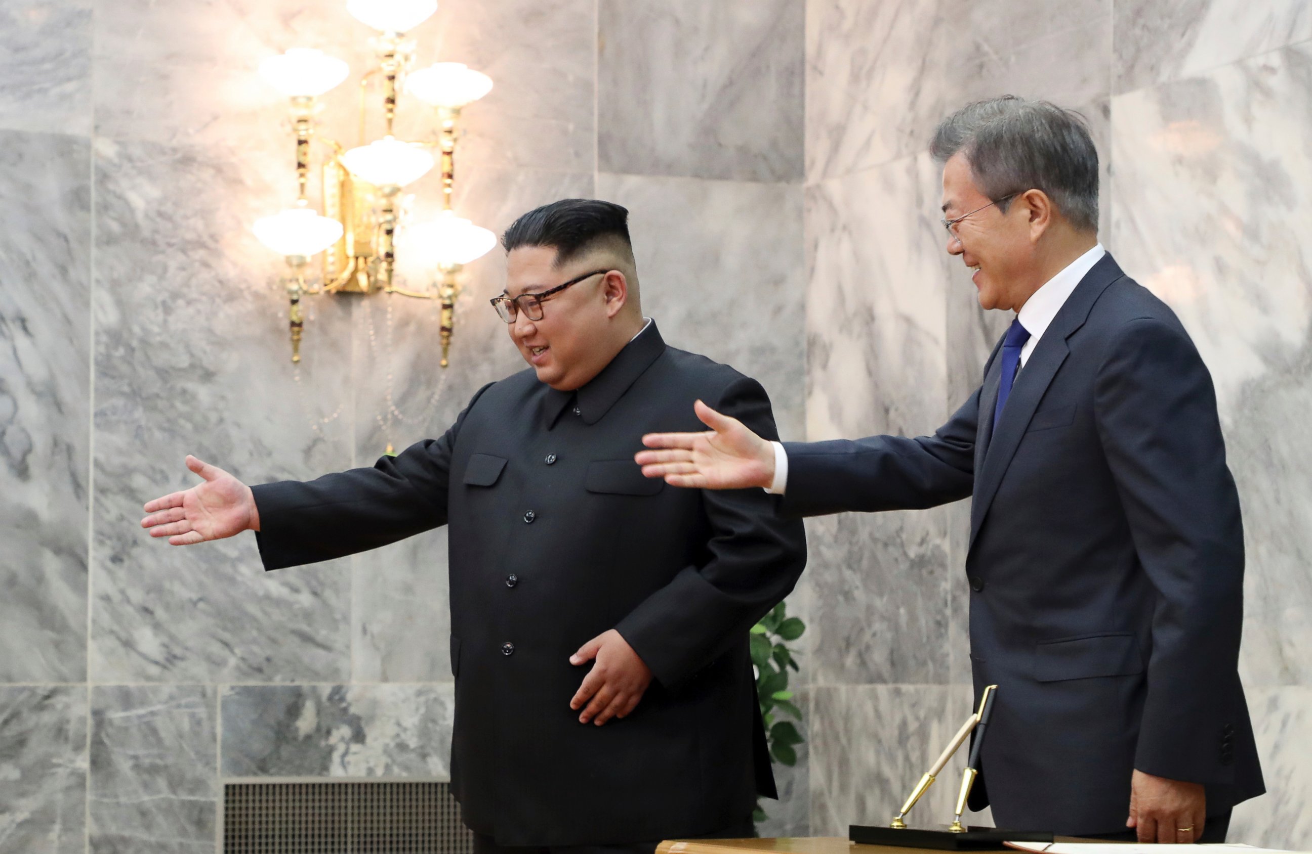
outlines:
{"label": "gold wall sconce with glowing white glass lamps", "polygon": [[[378,31],[371,39],[378,62],[359,80],[359,144],[346,149],[316,134],[316,119],[323,109],[319,97],[346,79],[350,72],[346,63],[308,48],[291,48],[262,62],[261,76],[290,100],[298,191],[293,207],[257,220],[255,233],[287,265],[281,284],[290,303],[293,362],[300,362],[303,296],[380,291],[440,301],[441,364],[445,368],[455,331],[459,272],[496,246],[496,234],[457,216],[451,207],[461,110],[485,96],[492,89],[492,80],[461,63],[437,63],[411,72],[415,43],[404,35],[437,12],[437,0],[348,0],[346,10]],[[366,141],[367,96],[377,83],[382,84],[384,134]],[[433,139],[394,136],[401,90],[434,109],[438,128]],[[321,211],[310,206],[306,194],[310,148],[316,139],[328,147],[321,166]],[[441,212],[430,221],[407,224],[405,233],[399,234],[401,190],[434,166],[442,174]],[[399,287],[395,275],[398,242],[415,248],[416,255],[434,269],[433,284]],[[323,253],[323,271],[312,280],[307,267],[310,258],[319,253]]]}

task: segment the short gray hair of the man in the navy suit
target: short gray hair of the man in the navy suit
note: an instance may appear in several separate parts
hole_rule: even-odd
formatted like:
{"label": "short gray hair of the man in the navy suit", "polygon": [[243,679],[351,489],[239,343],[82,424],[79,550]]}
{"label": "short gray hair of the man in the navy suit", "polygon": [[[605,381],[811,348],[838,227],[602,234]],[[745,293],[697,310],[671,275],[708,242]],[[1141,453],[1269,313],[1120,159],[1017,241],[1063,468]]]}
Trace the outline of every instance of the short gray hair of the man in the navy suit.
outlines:
{"label": "short gray hair of the man in the navy suit", "polygon": [[1098,231],[1098,151],[1075,110],[1010,94],[968,103],[939,122],[929,145],[938,162],[958,152],[989,199],[1043,190],[1072,225]]}

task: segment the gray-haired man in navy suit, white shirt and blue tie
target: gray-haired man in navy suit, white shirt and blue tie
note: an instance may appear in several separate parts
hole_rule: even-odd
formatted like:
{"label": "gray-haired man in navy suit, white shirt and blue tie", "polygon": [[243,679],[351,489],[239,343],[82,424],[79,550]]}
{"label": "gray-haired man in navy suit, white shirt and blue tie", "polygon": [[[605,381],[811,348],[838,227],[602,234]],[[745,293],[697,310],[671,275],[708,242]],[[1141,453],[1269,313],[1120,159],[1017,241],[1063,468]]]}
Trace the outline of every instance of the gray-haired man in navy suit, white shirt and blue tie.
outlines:
{"label": "gray-haired man in navy suit, white shirt and blue tie", "polygon": [[1211,377],[1174,313],[1098,245],[1078,117],[974,103],[933,153],[947,251],[974,269],[980,305],[1017,312],[953,418],[917,439],[778,445],[698,405],[711,432],[649,436],[664,451],[638,461],[677,486],[768,487],[791,516],[972,496],[971,665],[976,697],[998,692],[971,806],[991,800],[1018,829],[1224,840],[1231,808],[1263,787]]}

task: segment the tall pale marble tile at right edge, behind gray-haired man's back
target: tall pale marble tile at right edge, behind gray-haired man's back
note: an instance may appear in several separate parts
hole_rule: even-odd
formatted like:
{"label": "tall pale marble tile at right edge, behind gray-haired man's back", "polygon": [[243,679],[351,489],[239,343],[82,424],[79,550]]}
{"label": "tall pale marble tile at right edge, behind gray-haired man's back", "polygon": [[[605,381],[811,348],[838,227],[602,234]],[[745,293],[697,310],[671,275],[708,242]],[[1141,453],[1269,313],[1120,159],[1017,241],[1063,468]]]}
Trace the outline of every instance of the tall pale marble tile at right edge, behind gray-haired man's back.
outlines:
{"label": "tall pale marble tile at right edge, behind gray-haired man's back", "polygon": [[1111,249],[1176,309],[1212,373],[1244,508],[1241,667],[1312,684],[1312,46],[1113,100]]}

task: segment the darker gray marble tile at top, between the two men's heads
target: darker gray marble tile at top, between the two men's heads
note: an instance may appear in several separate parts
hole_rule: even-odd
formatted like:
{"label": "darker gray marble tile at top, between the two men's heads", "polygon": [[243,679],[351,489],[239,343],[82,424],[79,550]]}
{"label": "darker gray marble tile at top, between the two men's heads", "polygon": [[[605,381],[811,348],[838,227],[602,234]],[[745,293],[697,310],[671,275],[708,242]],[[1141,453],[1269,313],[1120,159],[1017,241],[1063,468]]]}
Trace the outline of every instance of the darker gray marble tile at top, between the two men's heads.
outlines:
{"label": "darker gray marble tile at top, between the two men's heads", "polygon": [[803,0],[600,0],[602,172],[800,181]]}

